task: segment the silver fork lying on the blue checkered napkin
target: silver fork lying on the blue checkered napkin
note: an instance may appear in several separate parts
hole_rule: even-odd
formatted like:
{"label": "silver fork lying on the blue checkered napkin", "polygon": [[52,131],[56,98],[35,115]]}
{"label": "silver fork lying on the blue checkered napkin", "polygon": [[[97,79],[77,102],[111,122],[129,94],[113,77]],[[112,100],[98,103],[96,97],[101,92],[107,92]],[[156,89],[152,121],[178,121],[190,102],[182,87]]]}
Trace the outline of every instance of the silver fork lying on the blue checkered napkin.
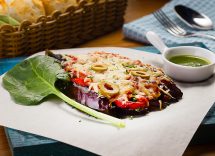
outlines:
{"label": "silver fork lying on the blue checkered napkin", "polygon": [[169,19],[169,17],[162,11],[158,10],[153,13],[154,17],[158,20],[158,22],[163,25],[166,30],[177,37],[203,37],[207,39],[212,39],[215,40],[215,36],[213,35],[208,35],[208,34],[201,34],[201,33],[193,33],[193,32],[188,32],[181,28],[179,25],[174,23]]}

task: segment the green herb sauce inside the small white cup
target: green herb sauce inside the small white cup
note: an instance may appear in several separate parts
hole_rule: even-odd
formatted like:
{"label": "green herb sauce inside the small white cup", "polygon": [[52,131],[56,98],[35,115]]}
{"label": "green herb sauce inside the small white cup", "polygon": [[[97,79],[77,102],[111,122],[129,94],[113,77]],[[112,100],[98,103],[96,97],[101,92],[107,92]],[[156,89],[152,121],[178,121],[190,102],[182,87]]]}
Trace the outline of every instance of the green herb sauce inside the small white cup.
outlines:
{"label": "green herb sauce inside the small white cup", "polygon": [[210,64],[210,61],[193,55],[178,55],[169,58],[170,62],[183,66],[200,67]]}

